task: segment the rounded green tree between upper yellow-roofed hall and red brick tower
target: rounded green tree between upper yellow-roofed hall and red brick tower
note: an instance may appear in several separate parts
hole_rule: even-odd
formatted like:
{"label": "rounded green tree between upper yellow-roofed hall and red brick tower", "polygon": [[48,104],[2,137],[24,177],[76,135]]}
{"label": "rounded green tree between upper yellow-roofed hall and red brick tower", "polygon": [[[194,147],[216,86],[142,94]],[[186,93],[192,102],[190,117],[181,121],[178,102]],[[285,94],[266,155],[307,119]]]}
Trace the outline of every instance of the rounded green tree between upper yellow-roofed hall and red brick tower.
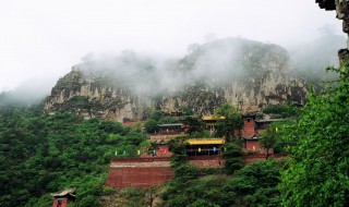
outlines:
{"label": "rounded green tree between upper yellow-roofed hall and red brick tower", "polygon": [[224,135],[227,142],[237,141],[236,131],[240,131],[243,125],[239,110],[225,104],[215,110],[215,115],[225,117],[217,121],[217,133]]}

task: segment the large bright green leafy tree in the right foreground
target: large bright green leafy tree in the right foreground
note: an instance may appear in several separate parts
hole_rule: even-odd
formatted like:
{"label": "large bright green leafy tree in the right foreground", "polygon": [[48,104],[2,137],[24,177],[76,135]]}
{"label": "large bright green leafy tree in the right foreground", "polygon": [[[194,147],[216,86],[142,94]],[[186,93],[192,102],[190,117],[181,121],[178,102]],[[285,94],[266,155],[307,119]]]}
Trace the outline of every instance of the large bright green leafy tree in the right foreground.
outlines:
{"label": "large bright green leafy tree in the right foreground", "polygon": [[310,93],[288,136],[298,144],[282,173],[284,206],[349,205],[349,68],[327,70],[338,77],[321,93]]}

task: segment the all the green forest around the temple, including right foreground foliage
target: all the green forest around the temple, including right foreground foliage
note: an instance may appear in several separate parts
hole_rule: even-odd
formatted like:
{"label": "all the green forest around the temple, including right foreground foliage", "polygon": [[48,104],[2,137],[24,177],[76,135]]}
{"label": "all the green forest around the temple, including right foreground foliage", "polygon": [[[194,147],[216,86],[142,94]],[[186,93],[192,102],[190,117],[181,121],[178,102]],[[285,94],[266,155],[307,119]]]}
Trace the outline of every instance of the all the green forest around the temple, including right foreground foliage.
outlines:
{"label": "all the green forest around the temple, including right foreground foliage", "polygon": [[[348,206],[349,73],[347,64],[329,70],[338,74],[337,78],[320,93],[312,90],[304,109],[265,110],[281,117],[299,115],[298,121],[275,127],[277,135],[273,135],[287,144],[284,147],[290,156],[286,162],[267,160],[243,166],[241,147],[234,142],[225,145],[221,170],[196,169],[177,156],[172,159],[174,179],[154,195],[151,188],[156,204]],[[268,131],[261,136],[267,141]],[[76,202],[70,206],[104,205],[101,195],[111,195],[112,203],[115,192],[104,187],[110,159],[116,150],[122,157],[136,156],[144,141],[146,135],[139,124],[123,127],[118,122],[84,120],[71,113],[43,114],[40,107],[1,108],[0,206],[50,206],[49,193],[67,187],[77,188]],[[128,192],[117,191],[130,200],[123,206],[149,204],[144,203],[148,192]],[[143,203],[140,197],[145,197]]]}

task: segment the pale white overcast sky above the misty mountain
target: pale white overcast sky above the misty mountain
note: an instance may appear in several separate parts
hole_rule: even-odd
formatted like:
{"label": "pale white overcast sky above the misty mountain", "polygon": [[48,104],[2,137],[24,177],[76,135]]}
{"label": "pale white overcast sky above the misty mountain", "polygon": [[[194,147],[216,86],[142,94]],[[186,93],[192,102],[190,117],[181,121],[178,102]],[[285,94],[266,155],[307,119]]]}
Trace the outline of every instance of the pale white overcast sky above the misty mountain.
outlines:
{"label": "pale white overcast sky above the misty mountain", "polygon": [[191,44],[243,37],[285,47],[333,25],[315,0],[0,0],[0,93],[50,88],[87,53],[183,57]]}

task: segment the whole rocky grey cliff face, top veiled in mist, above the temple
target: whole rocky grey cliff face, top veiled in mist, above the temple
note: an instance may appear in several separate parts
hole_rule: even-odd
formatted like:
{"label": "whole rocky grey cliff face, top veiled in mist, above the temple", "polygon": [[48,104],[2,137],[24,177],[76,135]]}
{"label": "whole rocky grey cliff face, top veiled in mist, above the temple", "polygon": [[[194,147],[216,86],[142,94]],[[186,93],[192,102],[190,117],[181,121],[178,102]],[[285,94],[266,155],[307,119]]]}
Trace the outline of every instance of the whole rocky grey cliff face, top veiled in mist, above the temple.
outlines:
{"label": "whole rocky grey cliff face, top veiled in mist, above the temple", "polygon": [[142,119],[152,108],[208,114],[224,102],[258,111],[303,104],[305,94],[304,81],[290,75],[284,48],[228,38],[193,45],[180,60],[133,52],[87,60],[57,82],[45,110],[122,121]]}

